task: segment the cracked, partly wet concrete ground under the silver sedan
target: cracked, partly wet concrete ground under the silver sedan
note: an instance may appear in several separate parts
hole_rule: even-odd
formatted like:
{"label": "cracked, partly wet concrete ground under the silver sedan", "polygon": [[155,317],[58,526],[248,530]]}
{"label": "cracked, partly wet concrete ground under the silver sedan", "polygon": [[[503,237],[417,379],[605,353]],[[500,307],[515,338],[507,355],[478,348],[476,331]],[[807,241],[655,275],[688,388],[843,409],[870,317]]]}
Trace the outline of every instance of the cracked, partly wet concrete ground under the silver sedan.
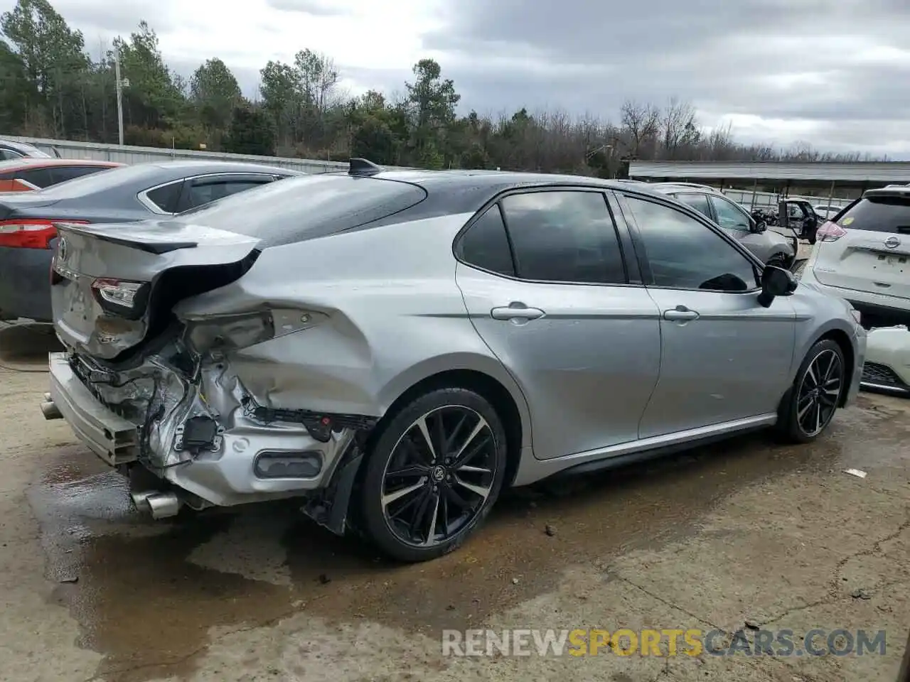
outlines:
{"label": "cracked, partly wet concrete ground under the silver sedan", "polygon": [[[864,394],[813,446],[741,437],[513,492],[460,551],[399,567],[288,505],[137,516],[121,479],[40,416],[52,346],[33,329],[0,333],[0,679],[895,679],[910,627],[910,401]],[[885,629],[886,654],[440,650],[445,627],[746,621]]]}

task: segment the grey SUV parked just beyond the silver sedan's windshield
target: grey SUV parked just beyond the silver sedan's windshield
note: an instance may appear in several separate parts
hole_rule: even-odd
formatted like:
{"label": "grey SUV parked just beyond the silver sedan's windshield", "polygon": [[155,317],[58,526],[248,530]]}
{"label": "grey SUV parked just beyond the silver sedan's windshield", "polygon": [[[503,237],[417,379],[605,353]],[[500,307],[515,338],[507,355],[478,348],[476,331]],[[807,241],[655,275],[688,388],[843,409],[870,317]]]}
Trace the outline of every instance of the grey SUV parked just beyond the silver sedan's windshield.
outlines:
{"label": "grey SUV parked just beyond the silver sedan's windshield", "polygon": [[749,249],[763,263],[789,268],[799,246],[794,237],[768,230],[749,212],[713,187],[686,183],[652,183],[649,188],[692,206]]}

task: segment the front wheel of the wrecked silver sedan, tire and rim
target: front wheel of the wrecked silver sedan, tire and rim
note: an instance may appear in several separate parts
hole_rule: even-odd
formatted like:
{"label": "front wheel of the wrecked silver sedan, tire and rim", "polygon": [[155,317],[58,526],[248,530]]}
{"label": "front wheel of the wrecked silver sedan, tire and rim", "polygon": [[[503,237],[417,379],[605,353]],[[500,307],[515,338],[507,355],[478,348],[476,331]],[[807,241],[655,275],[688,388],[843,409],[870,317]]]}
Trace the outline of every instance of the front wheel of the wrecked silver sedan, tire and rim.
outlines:
{"label": "front wheel of the wrecked silver sedan, tire and rim", "polygon": [[781,433],[796,443],[810,443],[820,436],[834,418],[846,380],[841,346],[830,339],[812,346],[781,403]]}

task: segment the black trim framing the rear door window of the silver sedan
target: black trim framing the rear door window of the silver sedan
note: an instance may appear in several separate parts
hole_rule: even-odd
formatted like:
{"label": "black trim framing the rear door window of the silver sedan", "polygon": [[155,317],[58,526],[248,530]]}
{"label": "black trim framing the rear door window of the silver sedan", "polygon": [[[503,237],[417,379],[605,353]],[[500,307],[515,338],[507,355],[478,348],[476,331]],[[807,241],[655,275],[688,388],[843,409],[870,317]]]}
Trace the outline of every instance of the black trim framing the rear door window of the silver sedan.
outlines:
{"label": "black trim framing the rear door window of the silver sedan", "polygon": [[[543,281],[536,279],[525,279],[520,276],[507,276],[502,275],[501,273],[490,272],[485,268],[480,266],[475,266],[472,263],[466,261],[461,255],[460,243],[461,237],[464,236],[468,230],[480,219],[480,216],[484,216],[487,211],[489,211],[494,206],[499,210],[500,216],[502,218],[502,224],[505,226],[506,238],[509,241],[509,249],[511,251],[512,266],[515,268],[515,272],[520,272],[518,256],[515,253],[515,246],[512,244],[512,239],[509,231],[509,222],[506,217],[506,212],[502,209],[501,201],[508,196],[514,195],[526,195],[526,194],[536,194],[539,192],[590,192],[594,194],[600,194],[603,198],[604,204],[606,206],[607,215],[612,219],[613,231],[615,233],[616,239],[619,242],[620,246],[620,257],[622,258],[623,269],[626,273],[626,282],[624,284],[613,283],[613,282],[554,282],[554,281]],[[455,238],[452,239],[452,255],[455,256],[455,259],[463,266],[479,270],[480,272],[485,272],[488,275],[501,277],[503,279],[511,279],[516,282],[527,282],[530,284],[550,284],[550,285],[567,285],[567,286],[643,286],[642,274],[639,270],[638,263],[632,260],[630,250],[628,246],[632,246],[632,237],[628,226],[626,226],[624,220],[622,220],[622,214],[618,210],[616,205],[616,197],[613,195],[612,188],[610,187],[596,187],[596,186],[583,186],[583,185],[550,185],[550,186],[525,186],[525,187],[515,187],[512,189],[505,190],[494,196],[486,204],[480,207],[480,209],[470,217],[467,223],[461,227],[458,234],[455,235]]]}

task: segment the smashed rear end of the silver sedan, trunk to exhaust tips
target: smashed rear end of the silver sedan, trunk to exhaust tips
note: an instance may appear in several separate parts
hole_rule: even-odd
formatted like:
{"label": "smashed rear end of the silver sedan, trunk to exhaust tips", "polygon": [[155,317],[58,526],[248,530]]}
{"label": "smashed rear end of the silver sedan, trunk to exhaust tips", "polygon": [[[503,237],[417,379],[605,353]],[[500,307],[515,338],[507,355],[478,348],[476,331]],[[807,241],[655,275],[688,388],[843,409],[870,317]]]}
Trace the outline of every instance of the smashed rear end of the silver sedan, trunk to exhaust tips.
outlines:
{"label": "smashed rear end of the silver sedan, trunk to exhaust tips", "polygon": [[66,351],[50,358],[45,416],[66,418],[110,466],[157,476],[160,485],[133,494],[156,517],[309,495],[311,515],[342,532],[343,510],[325,506],[324,488],[374,420],[259,405],[230,366],[232,353],[318,326],[323,314],[173,312],[244,276],[259,240],[175,220],[57,230],[51,293]]}

